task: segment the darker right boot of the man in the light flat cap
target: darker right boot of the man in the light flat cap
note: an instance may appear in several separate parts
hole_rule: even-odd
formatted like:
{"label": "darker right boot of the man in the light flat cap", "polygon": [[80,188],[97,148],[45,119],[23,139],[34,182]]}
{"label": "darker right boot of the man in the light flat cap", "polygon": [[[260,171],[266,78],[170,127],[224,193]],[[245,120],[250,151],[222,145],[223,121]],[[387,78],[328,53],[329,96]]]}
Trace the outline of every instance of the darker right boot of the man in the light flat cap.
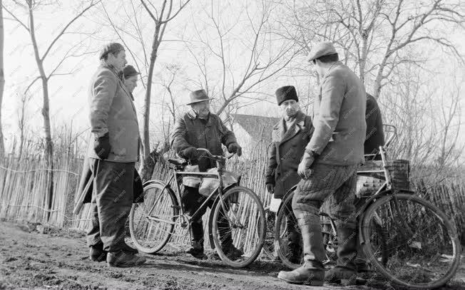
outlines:
{"label": "darker right boot of the man in the light flat cap", "polygon": [[357,280],[354,264],[357,257],[357,228],[354,222],[336,222],[336,230],[337,265],[327,271],[325,281],[344,286],[354,285]]}

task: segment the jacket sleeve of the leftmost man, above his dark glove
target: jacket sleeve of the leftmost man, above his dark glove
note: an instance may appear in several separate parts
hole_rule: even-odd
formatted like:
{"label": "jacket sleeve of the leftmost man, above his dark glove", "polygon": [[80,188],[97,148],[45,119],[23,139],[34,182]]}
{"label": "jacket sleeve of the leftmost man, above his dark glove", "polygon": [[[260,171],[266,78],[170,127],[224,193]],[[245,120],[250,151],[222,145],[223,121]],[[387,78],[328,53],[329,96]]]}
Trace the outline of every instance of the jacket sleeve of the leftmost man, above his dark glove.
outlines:
{"label": "jacket sleeve of the leftmost man, above his dark glove", "polygon": [[108,113],[116,95],[116,77],[111,71],[101,71],[93,82],[91,98],[91,132],[97,137],[108,133]]}

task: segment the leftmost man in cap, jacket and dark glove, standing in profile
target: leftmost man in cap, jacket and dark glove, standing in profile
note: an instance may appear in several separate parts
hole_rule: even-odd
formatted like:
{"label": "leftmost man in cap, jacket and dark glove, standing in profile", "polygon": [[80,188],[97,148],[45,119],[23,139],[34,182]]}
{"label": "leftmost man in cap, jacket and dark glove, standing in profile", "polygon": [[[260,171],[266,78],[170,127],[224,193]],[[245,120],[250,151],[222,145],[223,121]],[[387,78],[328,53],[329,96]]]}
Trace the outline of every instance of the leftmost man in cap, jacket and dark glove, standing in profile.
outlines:
{"label": "leftmost man in cap, jacket and dark glove, standing in profile", "polygon": [[87,233],[90,258],[109,266],[136,266],[144,257],[124,242],[133,202],[134,166],[139,128],[131,93],[123,83],[126,52],[109,43],[100,53],[101,66],[89,90],[91,138],[88,166],[93,178],[93,215]]}

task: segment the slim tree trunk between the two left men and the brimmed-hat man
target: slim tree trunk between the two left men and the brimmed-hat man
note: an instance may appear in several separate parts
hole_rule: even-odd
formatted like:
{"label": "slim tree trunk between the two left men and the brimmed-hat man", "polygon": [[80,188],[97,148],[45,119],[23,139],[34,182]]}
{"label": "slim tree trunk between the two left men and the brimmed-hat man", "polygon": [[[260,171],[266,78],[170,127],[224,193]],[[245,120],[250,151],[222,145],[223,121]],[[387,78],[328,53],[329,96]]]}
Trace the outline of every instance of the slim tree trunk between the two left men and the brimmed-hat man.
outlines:
{"label": "slim tree trunk between the two left men and the brimmed-hat man", "polygon": [[[158,35],[160,33],[160,23],[157,23],[155,26],[155,32],[153,33],[153,43],[152,43],[152,53],[150,54],[150,66],[148,68],[148,77],[147,77],[147,90],[145,91],[145,102],[144,102],[144,111],[143,111],[143,134],[142,134],[142,145],[143,145],[143,154],[140,158],[140,177],[143,182],[149,180],[151,176],[150,172],[153,172],[153,166],[155,162],[150,162],[150,134],[149,134],[149,121],[150,121],[150,98],[152,90],[152,79],[153,79],[153,68],[155,68],[155,61],[157,59],[158,46]],[[150,167],[152,167],[150,169]]]}

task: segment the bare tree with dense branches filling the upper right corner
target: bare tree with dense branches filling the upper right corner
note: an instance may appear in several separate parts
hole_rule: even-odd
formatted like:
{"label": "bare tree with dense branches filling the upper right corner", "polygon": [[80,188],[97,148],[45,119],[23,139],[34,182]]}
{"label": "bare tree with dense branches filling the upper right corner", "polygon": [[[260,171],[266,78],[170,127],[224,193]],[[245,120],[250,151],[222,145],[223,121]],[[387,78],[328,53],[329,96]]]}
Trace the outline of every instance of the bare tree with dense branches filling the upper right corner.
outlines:
{"label": "bare tree with dense branches filling the upper right corner", "polygon": [[344,57],[358,68],[362,81],[370,77],[375,98],[389,83],[392,72],[404,63],[418,63],[419,56],[405,57],[412,45],[438,45],[462,61],[446,30],[463,29],[464,6],[460,1],[288,1],[291,24],[302,31],[302,46],[310,39],[330,40],[344,48]]}

